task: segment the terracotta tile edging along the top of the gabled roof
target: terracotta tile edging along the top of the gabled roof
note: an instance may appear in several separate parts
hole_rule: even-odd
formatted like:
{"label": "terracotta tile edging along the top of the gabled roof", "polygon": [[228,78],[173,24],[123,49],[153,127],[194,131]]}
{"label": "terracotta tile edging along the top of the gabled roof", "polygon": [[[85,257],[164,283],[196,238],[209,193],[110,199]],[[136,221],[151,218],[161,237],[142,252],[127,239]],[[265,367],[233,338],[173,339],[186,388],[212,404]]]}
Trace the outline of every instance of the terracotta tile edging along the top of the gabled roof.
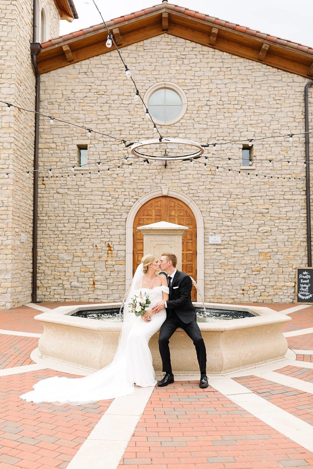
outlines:
{"label": "terracotta tile edging along the top of the gabled roof", "polygon": [[[260,31],[251,30],[239,24],[230,23],[225,20],[220,20],[219,18],[215,18],[214,16],[205,15],[203,13],[198,13],[197,11],[194,11],[194,10],[189,10],[188,8],[179,7],[178,5],[175,5],[173,3],[161,3],[159,5],[155,5],[154,7],[146,8],[145,10],[135,11],[134,13],[130,13],[129,15],[120,16],[119,18],[114,18],[113,20],[107,21],[107,27],[114,26],[115,24],[119,24],[124,21],[132,20],[140,16],[148,15],[150,13],[157,12],[164,8],[166,8],[167,10],[177,11],[178,13],[181,13],[183,15],[195,17],[199,20],[203,20],[208,23],[213,23],[218,26],[223,26],[225,28],[229,28],[232,30],[245,33],[245,34],[249,34],[250,36],[256,36],[261,39],[266,39],[267,41],[273,42],[274,44],[285,45],[285,46],[291,47],[293,49],[296,49],[302,52],[313,54],[313,48],[311,47],[298,44],[296,42],[291,42],[291,41],[288,41],[287,39],[276,38],[275,36],[261,33]],[[58,38],[49,39],[48,41],[43,42],[41,46],[43,49],[45,49],[46,47],[50,47],[55,44],[60,44],[63,41],[68,41],[69,39],[72,39],[72,38],[78,38],[79,36],[83,36],[84,34],[98,31],[103,28],[104,28],[104,25],[102,23],[99,23],[99,24],[96,24],[95,26],[91,26],[90,28],[84,28],[83,30],[75,31],[70,34],[60,36]]]}

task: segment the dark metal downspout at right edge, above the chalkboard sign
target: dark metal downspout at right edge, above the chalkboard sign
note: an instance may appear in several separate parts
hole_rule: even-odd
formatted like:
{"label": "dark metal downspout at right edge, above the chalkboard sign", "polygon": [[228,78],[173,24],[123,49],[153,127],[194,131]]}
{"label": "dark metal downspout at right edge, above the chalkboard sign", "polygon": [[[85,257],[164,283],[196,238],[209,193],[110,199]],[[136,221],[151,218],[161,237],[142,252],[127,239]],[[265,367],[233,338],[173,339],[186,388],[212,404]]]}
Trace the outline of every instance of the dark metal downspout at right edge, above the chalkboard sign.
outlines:
{"label": "dark metal downspout at right edge, above the chalkboard sign", "polygon": [[[309,132],[309,87],[313,81],[306,83],[304,89],[304,118],[305,132]],[[312,267],[311,245],[311,197],[310,197],[310,136],[305,134],[305,197],[306,197],[306,243],[307,243],[307,267]]]}

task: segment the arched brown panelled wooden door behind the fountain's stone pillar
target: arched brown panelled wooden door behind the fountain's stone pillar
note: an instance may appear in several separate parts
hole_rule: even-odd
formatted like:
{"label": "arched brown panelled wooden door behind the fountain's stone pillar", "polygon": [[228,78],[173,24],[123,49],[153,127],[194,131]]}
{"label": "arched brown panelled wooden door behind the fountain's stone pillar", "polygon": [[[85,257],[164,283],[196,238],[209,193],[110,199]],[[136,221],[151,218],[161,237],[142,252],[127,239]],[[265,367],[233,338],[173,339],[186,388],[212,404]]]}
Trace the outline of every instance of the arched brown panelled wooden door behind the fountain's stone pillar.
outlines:
{"label": "arched brown panelled wooden door behind the fountain's stone pillar", "polygon": [[[146,202],[138,210],[133,227],[133,273],[144,255],[144,238],[137,227],[168,221],[188,227],[182,240],[182,269],[197,281],[197,224],[188,205],[174,197],[155,197]],[[197,299],[195,287],[192,288],[191,298]]]}

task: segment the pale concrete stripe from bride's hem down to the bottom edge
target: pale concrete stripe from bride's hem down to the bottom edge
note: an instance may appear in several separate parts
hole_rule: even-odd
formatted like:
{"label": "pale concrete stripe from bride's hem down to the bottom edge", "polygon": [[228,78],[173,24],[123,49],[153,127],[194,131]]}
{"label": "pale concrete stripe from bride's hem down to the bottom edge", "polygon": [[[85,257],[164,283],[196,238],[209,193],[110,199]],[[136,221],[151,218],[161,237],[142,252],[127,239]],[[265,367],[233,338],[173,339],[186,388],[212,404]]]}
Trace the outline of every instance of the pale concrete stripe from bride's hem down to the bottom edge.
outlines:
{"label": "pale concrete stripe from bride's hem down to the bottom edge", "polygon": [[135,387],[116,398],[79,448],[67,469],[116,469],[154,387]]}

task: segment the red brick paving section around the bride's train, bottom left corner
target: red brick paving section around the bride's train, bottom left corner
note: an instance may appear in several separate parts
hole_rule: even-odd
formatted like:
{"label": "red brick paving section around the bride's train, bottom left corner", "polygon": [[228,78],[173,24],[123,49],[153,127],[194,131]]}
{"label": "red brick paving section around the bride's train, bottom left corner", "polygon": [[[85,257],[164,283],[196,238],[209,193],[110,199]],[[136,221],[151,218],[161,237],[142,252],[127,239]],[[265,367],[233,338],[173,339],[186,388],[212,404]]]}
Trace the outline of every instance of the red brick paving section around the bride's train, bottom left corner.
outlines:
{"label": "red brick paving section around the bride's train, bottom left corner", "polygon": [[19,398],[41,378],[65,375],[74,377],[53,370],[0,377],[0,469],[1,463],[25,469],[66,468],[107,410],[111,401],[70,406]]}

